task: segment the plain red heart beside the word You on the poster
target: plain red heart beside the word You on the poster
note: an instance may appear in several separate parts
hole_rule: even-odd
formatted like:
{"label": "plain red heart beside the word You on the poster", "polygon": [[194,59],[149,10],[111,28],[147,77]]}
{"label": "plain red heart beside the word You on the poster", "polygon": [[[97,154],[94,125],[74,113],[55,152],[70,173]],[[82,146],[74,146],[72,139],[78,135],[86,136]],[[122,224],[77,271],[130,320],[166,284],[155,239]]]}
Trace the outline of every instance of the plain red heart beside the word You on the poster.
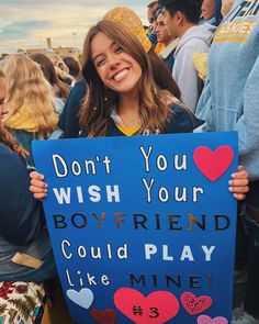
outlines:
{"label": "plain red heart beside the word You on the poster", "polygon": [[230,146],[223,145],[212,152],[206,146],[198,147],[193,160],[199,170],[211,181],[217,180],[230,166],[234,152]]}

